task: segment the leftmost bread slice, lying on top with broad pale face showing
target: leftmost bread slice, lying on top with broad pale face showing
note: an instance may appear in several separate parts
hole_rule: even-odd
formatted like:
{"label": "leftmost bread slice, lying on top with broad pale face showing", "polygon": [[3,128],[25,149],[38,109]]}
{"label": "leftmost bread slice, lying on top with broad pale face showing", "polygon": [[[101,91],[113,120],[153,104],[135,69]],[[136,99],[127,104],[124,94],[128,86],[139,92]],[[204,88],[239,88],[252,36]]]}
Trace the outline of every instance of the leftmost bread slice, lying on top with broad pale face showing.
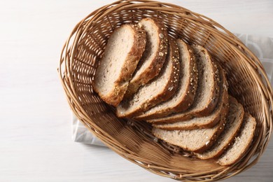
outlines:
{"label": "leftmost bread slice, lying on top with broad pale face showing", "polygon": [[104,102],[113,106],[121,102],[145,45],[146,33],[138,25],[122,25],[113,31],[92,83]]}

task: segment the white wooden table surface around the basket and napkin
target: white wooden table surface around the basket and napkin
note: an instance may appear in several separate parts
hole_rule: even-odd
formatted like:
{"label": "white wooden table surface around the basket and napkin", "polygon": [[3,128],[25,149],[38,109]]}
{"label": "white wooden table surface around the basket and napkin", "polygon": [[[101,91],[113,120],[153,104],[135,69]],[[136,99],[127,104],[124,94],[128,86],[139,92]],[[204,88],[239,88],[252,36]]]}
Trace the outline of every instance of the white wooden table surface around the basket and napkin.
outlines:
{"label": "white wooden table surface around the basket and napkin", "polygon": [[[273,37],[273,1],[167,1],[232,32]],[[0,1],[0,181],[172,181],[109,150],[71,140],[57,75],[62,45],[111,1]],[[273,140],[255,167],[226,181],[272,181]]]}

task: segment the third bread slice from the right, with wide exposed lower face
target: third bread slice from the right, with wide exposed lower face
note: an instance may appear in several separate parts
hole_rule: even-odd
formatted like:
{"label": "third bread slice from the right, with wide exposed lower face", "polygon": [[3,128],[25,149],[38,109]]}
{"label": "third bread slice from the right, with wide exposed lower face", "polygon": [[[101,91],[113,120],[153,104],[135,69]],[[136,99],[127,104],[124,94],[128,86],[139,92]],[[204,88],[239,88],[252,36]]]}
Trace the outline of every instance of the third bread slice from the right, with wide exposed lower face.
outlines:
{"label": "third bread slice from the right, with wide exposed lower face", "polygon": [[197,130],[162,130],[153,127],[152,133],[155,137],[166,141],[169,144],[180,146],[186,151],[202,153],[209,149],[225,127],[225,116],[223,113],[221,121],[214,127]]}

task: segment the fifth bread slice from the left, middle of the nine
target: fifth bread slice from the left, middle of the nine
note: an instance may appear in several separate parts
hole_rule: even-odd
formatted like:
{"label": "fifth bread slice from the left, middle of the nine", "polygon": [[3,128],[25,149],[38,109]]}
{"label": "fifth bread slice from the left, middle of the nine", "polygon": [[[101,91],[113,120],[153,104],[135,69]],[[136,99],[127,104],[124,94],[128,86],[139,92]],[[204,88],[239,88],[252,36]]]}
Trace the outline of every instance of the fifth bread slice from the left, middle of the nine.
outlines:
{"label": "fifth bread slice from the left, middle of the nine", "polygon": [[209,52],[200,45],[194,45],[193,50],[197,62],[198,83],[193,105],[181,113],[148,120],[149,123],[174,123],[189,120],[194,117],[207,116],[214,111],[218,102],[220,79],[215,62]]}

